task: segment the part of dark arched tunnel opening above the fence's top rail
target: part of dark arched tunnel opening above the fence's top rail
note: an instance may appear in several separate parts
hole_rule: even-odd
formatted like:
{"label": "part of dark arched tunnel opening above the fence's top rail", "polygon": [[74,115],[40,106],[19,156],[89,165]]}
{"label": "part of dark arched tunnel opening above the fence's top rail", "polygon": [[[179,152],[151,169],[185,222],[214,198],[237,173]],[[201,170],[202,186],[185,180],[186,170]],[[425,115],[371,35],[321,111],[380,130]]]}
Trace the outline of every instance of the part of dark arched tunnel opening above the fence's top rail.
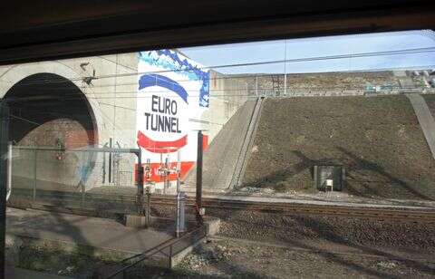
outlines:
{"label": "part of dark arched tunnel opening above the fence's top rail", "polygon": [[59,75],[26,77],[5,98],[11,113],[9,139],[15,145],[74,149],[96,141],[90,104],[73,82]]}

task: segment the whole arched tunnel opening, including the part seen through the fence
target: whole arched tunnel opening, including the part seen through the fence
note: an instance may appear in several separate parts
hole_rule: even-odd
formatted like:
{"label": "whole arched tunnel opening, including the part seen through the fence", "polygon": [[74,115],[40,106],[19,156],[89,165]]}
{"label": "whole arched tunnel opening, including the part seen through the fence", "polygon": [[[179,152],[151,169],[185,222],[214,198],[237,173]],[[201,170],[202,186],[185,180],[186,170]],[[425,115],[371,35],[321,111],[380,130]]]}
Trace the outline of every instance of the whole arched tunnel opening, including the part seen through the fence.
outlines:
{"label": "whole arched tunnel opening, including the part seen through the fence", "polygon": [[81,191],[92,183],[95,156],[71,151],[98,140],[91,105],[80,88],[62,76],[37,73],[15,83],[5,99],[13,196],[20,190],[33,191],[34,197],[41,190]]}

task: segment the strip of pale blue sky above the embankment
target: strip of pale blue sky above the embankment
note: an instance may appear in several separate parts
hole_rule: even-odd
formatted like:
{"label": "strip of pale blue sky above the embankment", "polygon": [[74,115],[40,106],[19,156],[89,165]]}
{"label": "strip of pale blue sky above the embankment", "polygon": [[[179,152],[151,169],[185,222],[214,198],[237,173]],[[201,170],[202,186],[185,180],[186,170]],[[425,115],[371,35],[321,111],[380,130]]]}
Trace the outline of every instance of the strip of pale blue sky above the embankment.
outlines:
{"label": "strip of pale blue sky above the embankment", "polygon": [[[286,46],[286,47],[285,47]],[[230,43],[179,49],[204,66],[264,63],[330,55],[433,48],[425,53],[372,55],[342,59],[217,68],[222,73],[342,72],[383,69],[435,69],[435,33],[405,31],[253,43]]]}

